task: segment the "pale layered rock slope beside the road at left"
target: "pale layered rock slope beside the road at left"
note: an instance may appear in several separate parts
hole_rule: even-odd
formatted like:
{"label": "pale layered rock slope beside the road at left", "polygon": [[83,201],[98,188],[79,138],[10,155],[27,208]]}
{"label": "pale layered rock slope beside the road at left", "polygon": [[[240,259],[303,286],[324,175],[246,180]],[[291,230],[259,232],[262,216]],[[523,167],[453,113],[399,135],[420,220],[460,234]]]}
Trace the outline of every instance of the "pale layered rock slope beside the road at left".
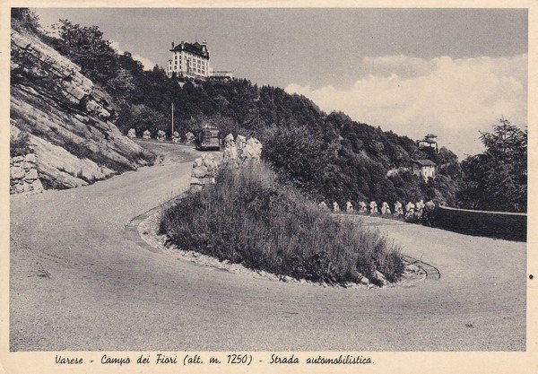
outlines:
{"label": "pale layered rock slope beside the road at left", "polygon": [[151,164],[153,155],[113,123],[108,94],[38,34],[17,29],[11,34],[12,153],[24,138],[43,185],[79,187]]}

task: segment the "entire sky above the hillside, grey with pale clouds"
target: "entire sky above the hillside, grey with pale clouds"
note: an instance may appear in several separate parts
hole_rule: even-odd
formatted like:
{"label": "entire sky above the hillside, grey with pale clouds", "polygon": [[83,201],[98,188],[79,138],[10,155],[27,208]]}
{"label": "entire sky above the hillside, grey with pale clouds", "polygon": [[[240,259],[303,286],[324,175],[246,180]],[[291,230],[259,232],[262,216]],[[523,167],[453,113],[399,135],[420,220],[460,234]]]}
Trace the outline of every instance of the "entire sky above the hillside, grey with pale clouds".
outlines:
{"label": "entire sky above the hillside, grey with pale clouds", "polygon": [[499,117],[527,124],[525,9],[39,8],[97,25],[146,68],[207,40],[211,66],[279,86],[399,135],[438,135],[463,158]]}

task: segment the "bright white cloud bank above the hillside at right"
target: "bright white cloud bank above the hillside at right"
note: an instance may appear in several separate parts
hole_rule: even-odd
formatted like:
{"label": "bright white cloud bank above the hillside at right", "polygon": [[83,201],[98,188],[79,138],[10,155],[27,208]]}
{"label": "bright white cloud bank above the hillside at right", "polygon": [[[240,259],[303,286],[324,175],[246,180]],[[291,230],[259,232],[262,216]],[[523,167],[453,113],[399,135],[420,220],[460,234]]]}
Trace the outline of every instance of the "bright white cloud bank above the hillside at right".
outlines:
{"label": "bright white cloud bank above the hillside at right", "polygon": [[501,116],[526,126],[526,66],[527,55],[364,57],[350,88],[292,83],[285,90],[399,135],[435,133],[440,145],[463,157],[482,152],[479,131],[490,131]]}

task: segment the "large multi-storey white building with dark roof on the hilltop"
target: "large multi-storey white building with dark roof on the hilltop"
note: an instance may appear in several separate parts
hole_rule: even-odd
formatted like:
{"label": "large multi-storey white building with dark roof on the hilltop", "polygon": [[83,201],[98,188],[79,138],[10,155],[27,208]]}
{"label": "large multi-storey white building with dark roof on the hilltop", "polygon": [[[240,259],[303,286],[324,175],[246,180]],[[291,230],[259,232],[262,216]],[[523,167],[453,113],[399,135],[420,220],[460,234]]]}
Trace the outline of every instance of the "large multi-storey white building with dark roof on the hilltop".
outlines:
{"label": "large multi-storey white building with dark roof on the hilltop", "polygon": [[231,72],[216,71],[209,65],[209,49],[207,42],[202,44],[195,41],[186,43],[181,41],[178,45],[172,43],[172,58],[168,61],[167,75],[169,78],[175,73],[182,78],[207,79],[210,77],[216,79],[233,79]]}

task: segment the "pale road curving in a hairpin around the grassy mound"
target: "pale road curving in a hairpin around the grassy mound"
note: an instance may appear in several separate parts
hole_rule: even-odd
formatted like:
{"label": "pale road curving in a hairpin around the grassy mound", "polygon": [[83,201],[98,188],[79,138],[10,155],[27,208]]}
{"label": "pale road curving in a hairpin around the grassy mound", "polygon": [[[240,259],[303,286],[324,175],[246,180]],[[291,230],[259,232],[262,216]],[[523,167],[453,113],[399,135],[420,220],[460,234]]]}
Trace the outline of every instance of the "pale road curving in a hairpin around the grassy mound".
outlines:
{"label": "pale road curving in a hairpin around the grassy mound", "polygon": [[441,273],[371,290],[260,280],[136,244],[126,223],[187,188],[194,152],[173,150],[163,166],[11,198],[13,351],[525,350],[524,243],[365,218]]}

